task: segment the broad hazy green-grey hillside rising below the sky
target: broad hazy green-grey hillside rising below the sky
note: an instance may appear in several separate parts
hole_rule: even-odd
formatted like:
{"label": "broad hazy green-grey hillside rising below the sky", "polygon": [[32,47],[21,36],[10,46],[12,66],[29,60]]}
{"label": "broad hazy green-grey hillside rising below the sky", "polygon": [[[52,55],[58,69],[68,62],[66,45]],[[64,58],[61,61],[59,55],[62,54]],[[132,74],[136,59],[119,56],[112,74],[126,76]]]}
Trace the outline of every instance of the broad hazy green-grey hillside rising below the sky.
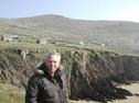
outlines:
{"label": "broad hazy green-grey hillside rising below the sky", "polygon": [[139,52],[139,23],[127,21],[85,21],[61,15],[0,19],[0,35],[15,34],[21,38],[53,38],[66,43],[101,46],[121,52]]}

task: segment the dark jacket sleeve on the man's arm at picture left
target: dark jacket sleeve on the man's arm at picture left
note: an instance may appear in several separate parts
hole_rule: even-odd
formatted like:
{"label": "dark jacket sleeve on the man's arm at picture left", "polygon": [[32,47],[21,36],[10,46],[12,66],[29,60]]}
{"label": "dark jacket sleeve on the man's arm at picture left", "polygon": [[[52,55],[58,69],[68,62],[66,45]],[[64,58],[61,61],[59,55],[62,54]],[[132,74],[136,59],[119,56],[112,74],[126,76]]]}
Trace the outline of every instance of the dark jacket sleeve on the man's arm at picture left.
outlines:
{"label": "dark jacket sleeve on the man's arm at picture left", "polygon": [[28,81],[25,103],[38,103],[39,84],[36,79],[38,78],[33,76]]}

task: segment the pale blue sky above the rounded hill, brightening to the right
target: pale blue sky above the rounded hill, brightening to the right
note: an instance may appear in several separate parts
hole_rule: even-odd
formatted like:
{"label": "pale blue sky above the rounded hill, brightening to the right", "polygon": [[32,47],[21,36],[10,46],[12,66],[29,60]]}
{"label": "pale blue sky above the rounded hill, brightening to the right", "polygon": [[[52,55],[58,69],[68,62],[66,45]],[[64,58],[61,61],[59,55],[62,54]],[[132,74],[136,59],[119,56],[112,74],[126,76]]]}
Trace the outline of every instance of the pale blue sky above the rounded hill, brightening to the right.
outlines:
{"label": "pale blue sky above the rounded hill, brightening to the right", "polygon": [[43,14],[77,20],[139,22],[139,0],[0,0],[0,18]]}

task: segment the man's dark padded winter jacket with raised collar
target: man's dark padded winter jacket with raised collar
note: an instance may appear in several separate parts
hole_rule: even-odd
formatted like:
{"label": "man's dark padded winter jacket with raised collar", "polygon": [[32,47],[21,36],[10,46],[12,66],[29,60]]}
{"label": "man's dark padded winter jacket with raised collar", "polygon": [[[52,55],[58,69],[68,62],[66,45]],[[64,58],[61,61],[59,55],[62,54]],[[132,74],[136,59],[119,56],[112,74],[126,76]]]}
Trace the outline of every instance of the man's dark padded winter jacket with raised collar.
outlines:
{"label": "man's dark padded winter jacket with raised collar", "polygon": [[57,69],[51,77],[44,64],[39,69],[44,73],[35,73],[30,78],[25,103],[68,103],[64,70]]}

